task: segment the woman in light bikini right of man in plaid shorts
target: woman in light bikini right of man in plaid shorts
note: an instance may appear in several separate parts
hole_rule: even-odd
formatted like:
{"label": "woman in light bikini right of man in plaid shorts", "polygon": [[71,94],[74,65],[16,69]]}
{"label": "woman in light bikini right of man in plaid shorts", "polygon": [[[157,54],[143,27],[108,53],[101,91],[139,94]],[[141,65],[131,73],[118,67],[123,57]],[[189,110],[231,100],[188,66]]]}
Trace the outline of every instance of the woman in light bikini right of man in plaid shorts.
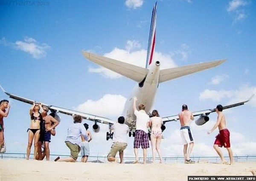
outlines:
{"label": "woman in light bikini right of man in plaid shorts", "polygon": [[162,118],[160,118],[158,111],[152,111],[152,117],[150,118],[149,126],[151,127],[151,147],[152,147],[152,155],[153,155],[153,163],[155,161],[156,150],[160,158],[160,164],[163,163],[161,151],[160,151],[160,143],[162,139],[162,130],[161,126],[163,124]]}

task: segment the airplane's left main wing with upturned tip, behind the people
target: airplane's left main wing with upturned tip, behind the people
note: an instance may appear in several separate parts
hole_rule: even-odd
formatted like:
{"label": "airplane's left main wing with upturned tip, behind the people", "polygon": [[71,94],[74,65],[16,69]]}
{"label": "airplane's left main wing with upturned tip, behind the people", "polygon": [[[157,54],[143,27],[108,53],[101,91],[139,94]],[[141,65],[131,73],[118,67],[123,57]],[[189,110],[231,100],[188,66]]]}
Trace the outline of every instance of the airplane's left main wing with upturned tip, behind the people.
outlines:
{"label": "airplane's left main wing with upturned tip, behind the people", "polygon": [[[29,104],[33,104],[33,103],[36,102],[36,101],[29,100],[27,98],[22,98],[20,96],[8,93],[3,89],[2,86],[0,86],[0,88],[3,90],[4,93],[6,93],[6,95],[8,95],[10,98],[15,99],[17,101],[21,101],[21,102],[29,103]],[[102,124],[114,124],[116,122],[116,121],[113,121],[111,119],[104,118],[104,117],[101,117],[101,116],[91,115],[91,114],[87,114],[87,113],[84,113],[84,112],[74,111],[74,110],[71,110],[71,109],[65,109],[65,108],[58,107],[58,106],[51,106],[51,105],[48,105],[48,104],[45,104],[45,103],[41,103],[41,104],[42,104],[42,106],[47,106],[51,112],[55,112],[55,113],[60,112],[60,113],[63,113],[63,114],[66,114],[66,115],[71,115],[71,116],[81,115],[81,117],[86,119],[86,120],[94,121],[94,122],[98,122],[98,123],[102,123]]]}

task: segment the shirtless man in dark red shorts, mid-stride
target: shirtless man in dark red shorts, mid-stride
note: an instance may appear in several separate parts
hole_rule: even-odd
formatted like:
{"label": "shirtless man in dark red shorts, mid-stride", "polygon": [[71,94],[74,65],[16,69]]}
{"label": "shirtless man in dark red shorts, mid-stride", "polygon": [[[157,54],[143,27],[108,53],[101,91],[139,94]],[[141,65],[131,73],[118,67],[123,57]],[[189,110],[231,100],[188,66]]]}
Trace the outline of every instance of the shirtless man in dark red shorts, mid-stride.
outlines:
{"label": "shirtless man in dark red shorts, mid-stride", "polygon": [[222,113],[223,107],[221,106],[221,104],[219,104],[217,105],[215,110],[216,110],[216,113],[218,114],[218,119],[215,125],[212,127],[212,129],[207,132],[207,134],[210,134],[218,127],[219,134],[216,136],[216,140],[214,142],[213,148],[221,157],[221,161],[224,164],[226,164],[227,162],[224,160],[221,149],[219,147],[224,146],[225,148],[227,148],[227,152],[230,157],[230,164],[233,164],[233,152],[232,152],[232,149],[230,148],[230,132],[226,128],[225,115]]}

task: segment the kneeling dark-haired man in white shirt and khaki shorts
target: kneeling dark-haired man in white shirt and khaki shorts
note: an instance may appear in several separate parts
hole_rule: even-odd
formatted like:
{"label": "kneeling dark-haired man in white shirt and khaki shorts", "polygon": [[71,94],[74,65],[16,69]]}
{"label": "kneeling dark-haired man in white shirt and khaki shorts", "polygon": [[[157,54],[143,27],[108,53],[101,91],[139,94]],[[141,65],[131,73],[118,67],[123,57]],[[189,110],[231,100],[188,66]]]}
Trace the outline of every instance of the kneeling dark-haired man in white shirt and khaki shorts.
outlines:
{"label": "kneeling dark-haired man in white shirt and khaki shorts", "polygon": [[114,130],[113,145],[108,153],[108,161],[115,161],[116,153],[119,152],[120,164],[123,164],[124,150],[127,147],[127,133],[129,127],[124,124],[125,118],[120,116],[118,122],[111,126],[111,130]]}

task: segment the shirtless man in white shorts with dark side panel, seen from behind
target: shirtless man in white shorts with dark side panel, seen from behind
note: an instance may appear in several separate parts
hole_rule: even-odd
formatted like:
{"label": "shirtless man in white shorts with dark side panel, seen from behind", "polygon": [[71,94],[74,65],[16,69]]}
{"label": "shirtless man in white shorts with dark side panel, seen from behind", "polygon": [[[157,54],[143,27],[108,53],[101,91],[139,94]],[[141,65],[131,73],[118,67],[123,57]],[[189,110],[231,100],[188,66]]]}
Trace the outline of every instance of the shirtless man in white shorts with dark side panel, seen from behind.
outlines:
{"label": "shirtless man in white shorts with dark side panel, seen from behind", "polygon": [[[182,112],[179,113],[180,118],[180,136],[183,141],[183,155],[185,164],[194,164],[195,161],[190,159],[190,154],[194,147],[194,140],[192,137],[192,132],[190,130],[190,120],[194,120],[194,116],[191,111],[188,110],[186,104],[182,105]],[[189,149],[188,149],[189,144]]]}

